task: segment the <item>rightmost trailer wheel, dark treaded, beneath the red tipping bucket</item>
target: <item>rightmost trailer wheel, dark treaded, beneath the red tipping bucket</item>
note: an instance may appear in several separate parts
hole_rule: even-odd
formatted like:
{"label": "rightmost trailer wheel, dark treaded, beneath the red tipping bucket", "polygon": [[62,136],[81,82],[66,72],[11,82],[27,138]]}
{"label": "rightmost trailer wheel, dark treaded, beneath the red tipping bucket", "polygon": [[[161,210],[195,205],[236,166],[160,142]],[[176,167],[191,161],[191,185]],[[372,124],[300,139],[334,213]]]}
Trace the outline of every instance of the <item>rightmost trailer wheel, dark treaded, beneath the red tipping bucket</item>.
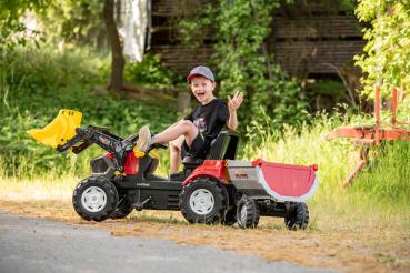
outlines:
{"label": "rightmost trailer wheel, dark treaded, beneath the red tipping bucket", "polygon": [[284,216],[284,224],[288,230],[304,230],[309,223],[309,209],[303,202],[292,203]]}

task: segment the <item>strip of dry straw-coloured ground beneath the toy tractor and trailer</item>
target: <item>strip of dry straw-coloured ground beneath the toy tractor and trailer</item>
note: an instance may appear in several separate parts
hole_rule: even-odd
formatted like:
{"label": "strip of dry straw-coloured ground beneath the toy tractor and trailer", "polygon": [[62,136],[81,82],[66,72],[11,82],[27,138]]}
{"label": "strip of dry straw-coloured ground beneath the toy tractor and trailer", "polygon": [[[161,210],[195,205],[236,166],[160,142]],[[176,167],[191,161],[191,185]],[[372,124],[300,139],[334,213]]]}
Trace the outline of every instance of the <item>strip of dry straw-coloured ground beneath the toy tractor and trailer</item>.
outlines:
{"label": "strip of dry straw-coloured ground beneath the toy tractor and trailer", "polygon": [[[282,219],[261,219],[258,229],[241,230],[236,226],[190,225],[180,212],[162,211],[133,212],[127,219],[96,223],[81,220],[71,203],[61,201],[0,200],[0,210],[66,222],[77,229],[98,228],[108,231],[107,234],[111,234],[112,237],[169,240],[176,245],[184,245],[188,249],[198,246],[220,250],[223,252],[219,252],[219,255],[223,256],[227,255],[224,251],[228,251],[239,255],[239,260],[258,256],[262,264],[286,262],[341,272],[409,272],[410,270],[409,231],[374,229],[371,223],[366,229],[313,228],[293,232],[283,228]],[[2,233],[3,231],[0,231],[0,234]],[[4,250],[0,249],[0,251],[1,256]],[[143,253],[141,251],[136,253]],[[131,256],[133,257],[134,254]],[[189,256],[188,260],[202,262],[202,257],[197,255]],[[238,265],[238,267],[244,272],[249,269],[244,265]],[[208,267],[203,269],[208,270]],[[219,266],[210,269],[219,269]],[[263,272],[263,266],[259,271]]]}

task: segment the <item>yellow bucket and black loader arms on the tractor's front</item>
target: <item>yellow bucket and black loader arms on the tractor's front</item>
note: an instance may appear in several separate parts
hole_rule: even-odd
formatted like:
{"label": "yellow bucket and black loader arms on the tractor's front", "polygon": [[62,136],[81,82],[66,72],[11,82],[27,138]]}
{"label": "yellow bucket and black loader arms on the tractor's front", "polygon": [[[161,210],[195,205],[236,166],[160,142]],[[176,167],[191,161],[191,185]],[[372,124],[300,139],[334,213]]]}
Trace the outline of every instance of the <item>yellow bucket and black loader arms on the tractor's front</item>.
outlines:
{"label": "yellow bucket and black loader arms on the tractor's front", "polygon": [[82,113],[60,110],[59,114],[43,129],[32,129],[28,133],[38,142],[52,146],[58,152],[71,151],[79,154],[92,144],[112,153],[117,171],[123,172],[127,154],[133,149],[138,134],[121,139],[106,128],[88,125],[80,128]]}

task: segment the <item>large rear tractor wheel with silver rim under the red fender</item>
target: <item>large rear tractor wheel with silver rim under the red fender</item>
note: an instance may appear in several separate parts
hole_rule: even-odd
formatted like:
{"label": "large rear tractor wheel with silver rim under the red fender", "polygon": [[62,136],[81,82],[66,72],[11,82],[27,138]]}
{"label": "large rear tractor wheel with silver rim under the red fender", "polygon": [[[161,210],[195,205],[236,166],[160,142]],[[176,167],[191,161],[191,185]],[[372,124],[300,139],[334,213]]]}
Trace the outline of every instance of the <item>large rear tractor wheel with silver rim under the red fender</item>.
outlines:
{"label": "large rear tractor wheel with silver rim under the red fender", "polygon": [[190,223],[213,224],[224,216],[227,200],[219,182],[199,178],[186,185],[180,195],[179,206]]}

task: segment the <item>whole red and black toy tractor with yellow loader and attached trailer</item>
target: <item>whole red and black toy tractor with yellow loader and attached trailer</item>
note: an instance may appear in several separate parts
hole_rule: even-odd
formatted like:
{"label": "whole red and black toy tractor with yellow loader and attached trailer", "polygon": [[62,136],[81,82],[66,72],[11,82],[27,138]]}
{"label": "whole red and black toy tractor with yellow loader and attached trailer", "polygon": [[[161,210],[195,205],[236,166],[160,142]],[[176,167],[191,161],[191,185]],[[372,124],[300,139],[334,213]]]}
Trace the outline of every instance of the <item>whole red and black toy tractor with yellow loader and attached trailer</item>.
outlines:
{"label": "whole red and black toy tractor with yellow loader and attached trailer", "polygon": [[92,173],[74,189],[72,204],[88,221],[122,219],[133,209],[180,210],[190,223],[256,228],[260,216],[284,218],[290,230],[306,229],[308,205],[317,186],[317,165],[302,166],[236,159],[239,136],[222,131],[206,159],[184,158],[178,181],[154,174],[159,158],[153,144],[134,151],[138,134],[122,139],[106,128],[80,128],[81,112],[60,110],[46,128],[29,133],[58,152],[78,154],[92,144],[107,151],[91,161]]}

